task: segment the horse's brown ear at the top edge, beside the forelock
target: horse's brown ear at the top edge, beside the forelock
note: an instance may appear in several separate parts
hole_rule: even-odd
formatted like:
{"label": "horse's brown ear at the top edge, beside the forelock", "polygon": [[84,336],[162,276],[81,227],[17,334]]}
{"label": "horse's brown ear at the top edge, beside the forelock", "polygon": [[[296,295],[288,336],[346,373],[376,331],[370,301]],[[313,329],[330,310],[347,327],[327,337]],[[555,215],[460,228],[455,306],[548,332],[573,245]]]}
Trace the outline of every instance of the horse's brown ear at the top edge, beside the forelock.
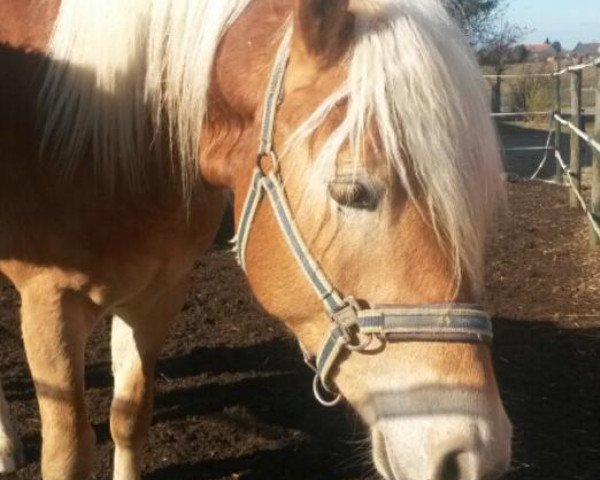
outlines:
{"label": "horse's brown ear at the top edge, beside the forelock", "polygon": [[296,0],[296,28],[309,54],[331,62],[344,54],[352,38],[350,0]]}

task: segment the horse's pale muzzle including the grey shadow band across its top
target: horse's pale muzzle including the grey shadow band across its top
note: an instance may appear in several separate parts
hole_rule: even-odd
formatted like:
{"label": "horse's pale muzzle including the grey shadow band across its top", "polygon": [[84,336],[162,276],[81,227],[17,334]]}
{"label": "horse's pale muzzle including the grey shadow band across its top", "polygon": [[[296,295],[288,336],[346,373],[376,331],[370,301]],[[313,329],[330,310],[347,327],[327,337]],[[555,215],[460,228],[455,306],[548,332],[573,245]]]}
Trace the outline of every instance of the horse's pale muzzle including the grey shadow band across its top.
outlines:
{"label": "horse's pale muzzle including the grey shadow band across its top", "polygon": [[386,480],[494,480],[509,466],[512,427],[482,391],[387,392],[369,407],[373,460]]}

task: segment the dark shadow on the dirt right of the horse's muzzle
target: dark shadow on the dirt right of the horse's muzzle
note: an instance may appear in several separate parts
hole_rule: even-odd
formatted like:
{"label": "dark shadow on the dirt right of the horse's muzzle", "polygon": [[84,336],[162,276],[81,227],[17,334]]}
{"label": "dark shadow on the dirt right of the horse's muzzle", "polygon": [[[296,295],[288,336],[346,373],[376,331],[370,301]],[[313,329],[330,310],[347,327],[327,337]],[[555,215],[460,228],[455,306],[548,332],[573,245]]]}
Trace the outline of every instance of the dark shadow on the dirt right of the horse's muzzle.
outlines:
{"label": "dark shadow on the dirt right of the horse's muzzle", "polygon": [[600,326],[495,321],[495,366],[515,426],[510,480],[600,478]]}

